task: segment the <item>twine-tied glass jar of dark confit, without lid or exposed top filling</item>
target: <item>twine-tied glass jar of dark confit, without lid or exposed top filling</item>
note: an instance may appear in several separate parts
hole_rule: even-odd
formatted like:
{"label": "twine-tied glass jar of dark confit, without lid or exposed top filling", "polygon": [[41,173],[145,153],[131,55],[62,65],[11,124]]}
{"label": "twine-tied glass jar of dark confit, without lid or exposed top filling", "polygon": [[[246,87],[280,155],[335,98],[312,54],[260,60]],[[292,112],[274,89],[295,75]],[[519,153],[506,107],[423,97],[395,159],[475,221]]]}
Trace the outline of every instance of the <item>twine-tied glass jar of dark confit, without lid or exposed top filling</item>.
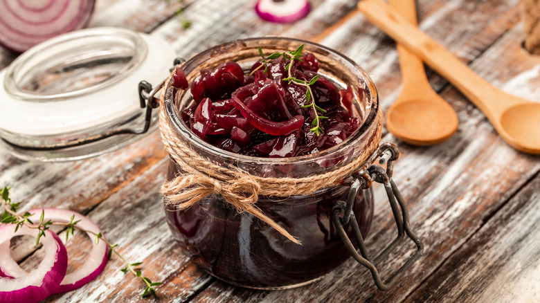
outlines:
{"label": "twine-tied glass jar of dark confit, without lid or exposed top filling", "polygon": [[[359,120],[348,138],[322,152],[263,158],[210,145],[181,118],[194,102],[192,93],[172,85],[173,77],[165,82],[160,127],[171,156],[163,187],[168,225],[195,263],[238,286],[282,289],[321,279],[350,258],[372,222],[372,190],[361,175],[370,182],[368,166],[386,152],[379,152],[383,120],[377,91],[362,68],[330,48],[287,38],[229,42],[199,53],[181,68],[190,83],[201,70],[224,62],[237,62],[249,73],[260,50],[283,53],[300,44],[318,59],[319,75],[352,94],[350,114]],[[386,154],[386,160],[397,158]],[[290,185],[282,195],[265,194],[281,188],[280,183]],[[308,183],[318,186],[303,191]],[[186,192],[192,194],[189,201],[171,202]],[[336,226],[336,220],[343,223]],[[345,237],[352,241],[344,245]]]}

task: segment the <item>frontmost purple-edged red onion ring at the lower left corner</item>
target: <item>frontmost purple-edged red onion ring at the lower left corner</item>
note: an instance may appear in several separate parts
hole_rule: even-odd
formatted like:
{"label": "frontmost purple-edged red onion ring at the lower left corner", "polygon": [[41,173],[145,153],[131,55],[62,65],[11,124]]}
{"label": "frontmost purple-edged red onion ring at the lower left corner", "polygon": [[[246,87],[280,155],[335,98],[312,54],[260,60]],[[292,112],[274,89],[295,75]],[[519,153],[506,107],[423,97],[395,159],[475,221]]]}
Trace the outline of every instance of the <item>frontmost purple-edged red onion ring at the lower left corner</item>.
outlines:
{"label": "frontmost purple-edged red onion ring at the lower left corner", "polygon": [[[22,226],[15,232],[15,227],[15,224],[0,226],[0,243],[9,243],[12,237],[19,235],[37,237],[37,229]],[[0,302],[39,302],[58,288],[67,270],[66,247],[54,232],[46,230],[45,235],[41,238],[45,257],[37,269],[15,279],[0,277]]]}

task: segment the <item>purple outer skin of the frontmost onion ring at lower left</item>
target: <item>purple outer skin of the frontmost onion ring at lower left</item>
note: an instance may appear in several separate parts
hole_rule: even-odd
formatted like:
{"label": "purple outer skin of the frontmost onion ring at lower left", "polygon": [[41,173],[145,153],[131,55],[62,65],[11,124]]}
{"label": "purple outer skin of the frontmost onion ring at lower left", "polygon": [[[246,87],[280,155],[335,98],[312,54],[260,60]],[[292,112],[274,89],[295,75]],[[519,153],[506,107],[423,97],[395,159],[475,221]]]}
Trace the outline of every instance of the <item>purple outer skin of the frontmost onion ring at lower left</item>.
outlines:
{"label": "purple outer skin of the frontmost onion ring at lower left", "polygon": [[[55,291],[67,271],[67,251],[66,246],[62,244],[62,240],[54,233],[46,231],[47,236],[53,237],[60,246],[60,250],[56,252],[56,261],[53,268],[45,274],[41,286],[26,286],[17,291],[0,291],[0,302],[2,303],[37,303],[46,299],[53,291]],[[31,273],[30,273],[31,275]]]}

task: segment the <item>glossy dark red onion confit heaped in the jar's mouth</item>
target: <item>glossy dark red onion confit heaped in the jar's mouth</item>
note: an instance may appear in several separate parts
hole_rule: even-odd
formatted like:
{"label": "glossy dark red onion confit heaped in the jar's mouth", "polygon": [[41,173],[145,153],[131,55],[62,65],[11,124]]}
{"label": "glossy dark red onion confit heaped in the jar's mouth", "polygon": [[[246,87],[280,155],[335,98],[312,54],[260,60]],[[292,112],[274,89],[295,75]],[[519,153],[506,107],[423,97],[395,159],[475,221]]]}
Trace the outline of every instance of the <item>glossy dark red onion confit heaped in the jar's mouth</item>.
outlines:
{"label": "glossy dark red onion confit heaped in the jar's mouth", "polygon": [[[315,55],[300,57],[292,63],[285,55],[260,59],[246,72],[235,62],[201,70],[190,85],[193,102],[183,109],[183,121],[207,143],[248,156],[304,156],[343,142],[360,122],[351,114],[353,94],[317,73]],[[173,80],[186,89],[180,68]],[[325,116],[316,116],[309,100]],[[314,132],[315,122],[321,133]]]}

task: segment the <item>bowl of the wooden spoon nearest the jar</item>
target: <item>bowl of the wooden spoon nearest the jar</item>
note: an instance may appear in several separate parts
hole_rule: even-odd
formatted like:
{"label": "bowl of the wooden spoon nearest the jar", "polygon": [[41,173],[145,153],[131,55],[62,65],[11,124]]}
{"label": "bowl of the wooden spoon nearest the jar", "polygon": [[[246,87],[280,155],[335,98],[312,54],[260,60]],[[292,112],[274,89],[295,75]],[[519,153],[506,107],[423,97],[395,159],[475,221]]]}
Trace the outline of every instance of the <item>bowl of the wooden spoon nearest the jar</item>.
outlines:
{"label": "bowl of the wooden spoon nearest the jar", "polygon": [[[437,96],[438,97],[438,96]],[[456,111],[442,98],[407,99],[395,102],[386,114],[388,131],[400,140],[418,146],[434,145],[456,134]]]}

